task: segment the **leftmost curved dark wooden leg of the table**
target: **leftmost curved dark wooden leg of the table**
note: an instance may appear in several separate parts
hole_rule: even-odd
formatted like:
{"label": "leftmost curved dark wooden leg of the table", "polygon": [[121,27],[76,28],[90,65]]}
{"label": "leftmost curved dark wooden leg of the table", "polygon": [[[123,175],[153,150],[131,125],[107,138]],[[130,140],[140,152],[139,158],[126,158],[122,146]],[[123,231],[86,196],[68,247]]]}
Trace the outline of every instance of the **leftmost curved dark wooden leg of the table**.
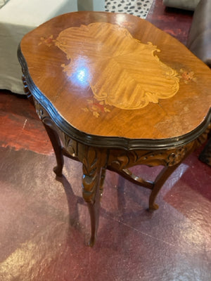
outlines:
{"label": "leftmost curved dark wooden leg of the table", "polygon": [[56,131],[52,129],[52,124],[51,124],[50,119],[48,119],[48,120],[43,119],[42,121],[43,121],[44,127],[46,129],[46,132],[49,135],[51,144],[53,146],[53,150],[56,155],[57,166],[53,168],[53,171],[56,174],[56,176],[62,176],[64,158],[63,158],[63,151],[62,151],[62,147],[60,144],[60,139],[58,137],[58,133],[56,133]]}

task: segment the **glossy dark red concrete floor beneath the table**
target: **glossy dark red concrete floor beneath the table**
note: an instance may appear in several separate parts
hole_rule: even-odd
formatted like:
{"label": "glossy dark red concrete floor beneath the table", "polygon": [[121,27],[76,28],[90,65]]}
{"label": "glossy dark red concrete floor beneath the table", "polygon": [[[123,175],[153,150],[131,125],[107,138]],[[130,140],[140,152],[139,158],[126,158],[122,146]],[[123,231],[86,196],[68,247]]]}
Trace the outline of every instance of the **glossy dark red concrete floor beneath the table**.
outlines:
{"label": "glossy dark red concrete floor beneath the table", "polygon": [[[167,11],[161,2],[148,20],[186,41],[191,14]],[[65,159],[63,178],[55,178],[34,108],[0,93],[1,281],[211,280],[211,169],[198,160],[202,148],[165,183],[153,213],[146,210],[149,190],[108,171],[98,237],[89,248],[81,164]],[[141,172],[154,176],[155,169]]]}

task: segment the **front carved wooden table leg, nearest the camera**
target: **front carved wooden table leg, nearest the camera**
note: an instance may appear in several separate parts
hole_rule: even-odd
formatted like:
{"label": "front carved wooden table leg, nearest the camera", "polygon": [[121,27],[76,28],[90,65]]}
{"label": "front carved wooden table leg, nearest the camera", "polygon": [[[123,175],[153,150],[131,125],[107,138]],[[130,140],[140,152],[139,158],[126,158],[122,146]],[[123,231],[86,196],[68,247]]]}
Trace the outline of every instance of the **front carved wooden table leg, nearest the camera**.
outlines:
{"label": "front carved wooden table leg, nearest the camera", "polygon": [[101,153],[94,148],[87,148],[83,157],[83,197],[89,207],[91,218],[91,238],[89,246],[94,245],[99,221],[99,207],[105,170],[102,168]]}

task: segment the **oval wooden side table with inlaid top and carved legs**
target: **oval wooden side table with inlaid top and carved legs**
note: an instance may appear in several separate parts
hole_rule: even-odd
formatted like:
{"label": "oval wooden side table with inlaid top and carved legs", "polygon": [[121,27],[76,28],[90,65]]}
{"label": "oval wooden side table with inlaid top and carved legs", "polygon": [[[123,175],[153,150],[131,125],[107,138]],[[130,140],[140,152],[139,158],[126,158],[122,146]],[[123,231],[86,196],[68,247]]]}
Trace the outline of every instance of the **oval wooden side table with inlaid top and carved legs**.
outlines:
{"label": "oval wooden side table with inlaid top and carved legs", "polygon": [[[132,15],[60,15],[25,35],[18,49],[25,91],[32,94],[56,154],[83,164],[82,193],[98,227],[106,169],[151,189],[163,183],[206,138],[210,69],[170,35]],[[129,171],[163,169],[154,182]]]}

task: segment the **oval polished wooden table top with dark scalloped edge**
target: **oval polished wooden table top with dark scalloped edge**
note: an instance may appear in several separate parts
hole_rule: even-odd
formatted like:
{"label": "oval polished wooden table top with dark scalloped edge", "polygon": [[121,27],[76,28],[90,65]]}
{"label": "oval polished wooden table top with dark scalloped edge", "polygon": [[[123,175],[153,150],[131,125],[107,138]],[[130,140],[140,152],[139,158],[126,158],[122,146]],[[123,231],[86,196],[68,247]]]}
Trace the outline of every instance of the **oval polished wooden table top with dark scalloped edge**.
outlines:
{"label": "oval polished wooden table top with dark scalloped edge", "polygon": [[23,37],[18,58],[34,98],[82,143],[172,148],[210,123],[210,68],[133,15],[60,15]]}

